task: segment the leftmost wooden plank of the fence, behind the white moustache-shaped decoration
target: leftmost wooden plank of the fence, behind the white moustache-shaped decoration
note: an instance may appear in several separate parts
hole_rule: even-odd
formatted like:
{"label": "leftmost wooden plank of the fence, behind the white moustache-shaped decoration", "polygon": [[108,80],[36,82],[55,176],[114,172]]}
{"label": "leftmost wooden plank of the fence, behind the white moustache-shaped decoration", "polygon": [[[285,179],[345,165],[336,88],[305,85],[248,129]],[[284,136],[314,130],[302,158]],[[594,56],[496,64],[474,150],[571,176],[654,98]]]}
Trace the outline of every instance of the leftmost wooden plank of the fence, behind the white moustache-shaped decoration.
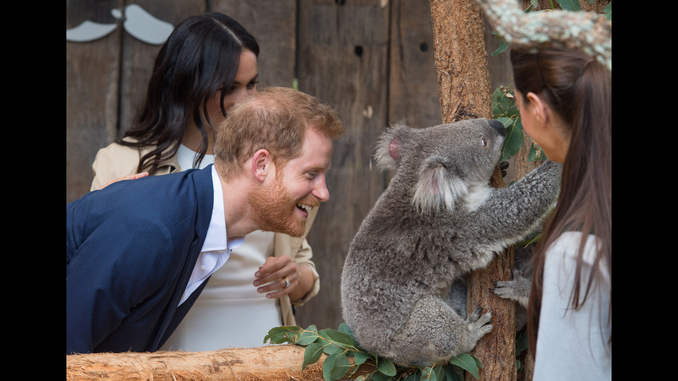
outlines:
{"label": "leftmost wooden plank of the fence, behind the white moustache-shaped decoration", "polygon": [[[66,1],[66,29],[83,21],[115,24],[121,1]],[[118,124],[120,36],[66,41],[66,203],[89,192],[92,161]]]}

